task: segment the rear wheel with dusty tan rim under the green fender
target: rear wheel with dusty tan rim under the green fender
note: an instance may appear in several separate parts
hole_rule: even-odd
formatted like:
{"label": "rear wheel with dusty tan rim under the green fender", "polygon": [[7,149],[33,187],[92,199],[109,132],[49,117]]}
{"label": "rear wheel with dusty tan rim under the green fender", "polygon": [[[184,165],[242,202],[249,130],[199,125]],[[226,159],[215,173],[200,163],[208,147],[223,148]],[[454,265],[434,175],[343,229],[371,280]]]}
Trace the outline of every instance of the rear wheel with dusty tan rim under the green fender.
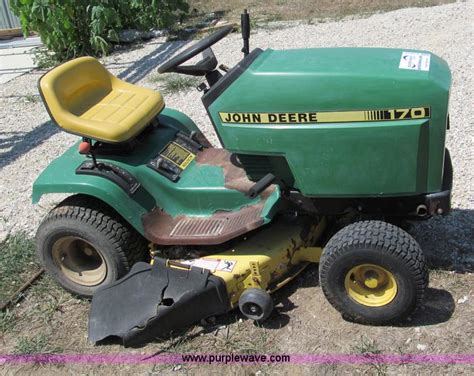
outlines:
{"label": "rear wheel with dusty tan rim under the green fender", "polygon": [[54,208],[36,233],[44,269],[66,290],[91,297],[146,256],[146,241],[112,208],[72,196]]}

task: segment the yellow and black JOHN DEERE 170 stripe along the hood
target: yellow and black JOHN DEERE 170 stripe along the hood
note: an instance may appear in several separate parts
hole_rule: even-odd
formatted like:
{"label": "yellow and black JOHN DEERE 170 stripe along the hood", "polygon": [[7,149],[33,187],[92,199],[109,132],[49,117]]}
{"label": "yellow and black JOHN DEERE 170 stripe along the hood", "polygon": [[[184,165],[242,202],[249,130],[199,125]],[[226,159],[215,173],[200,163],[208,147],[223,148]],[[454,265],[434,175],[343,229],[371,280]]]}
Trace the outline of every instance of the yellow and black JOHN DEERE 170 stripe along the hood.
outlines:
{"label": "yellow and black JOHN DEERE 170 stripe along the hood", "polygon": [[224,124],[313,124],[425,119],[430,107],[335,112],[219,112]]}

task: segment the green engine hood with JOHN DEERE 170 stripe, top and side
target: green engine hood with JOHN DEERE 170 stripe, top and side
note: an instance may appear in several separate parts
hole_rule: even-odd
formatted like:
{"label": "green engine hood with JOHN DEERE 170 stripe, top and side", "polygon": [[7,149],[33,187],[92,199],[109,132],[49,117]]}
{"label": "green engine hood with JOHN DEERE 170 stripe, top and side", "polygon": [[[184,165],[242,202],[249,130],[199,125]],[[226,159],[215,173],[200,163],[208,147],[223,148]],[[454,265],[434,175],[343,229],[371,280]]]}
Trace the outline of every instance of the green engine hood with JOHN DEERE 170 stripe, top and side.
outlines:
{"label": "green engine hood with JOHN DEERE 170 stripe, top and side", "polygon": [[[228,150],[283,156],[295,187],[308,196],[438,191],[451,73],[429,52],[422,52],[429,54],[428,70],[401,68],[404,51],[269,49],[208,104],[208,111]],[[415,116],[394,112],[403,118],[383,121],[383,111],[403,109],[414,109]],[[376,112],[365,115],[367,121],[298,121],[299,113],[317,112],[319,118],[347,111]],[[237,113],[235,121],[225,121],[229,113]],[[264,123],[258,116],[252,121],[252,114],[262,113],[267,120],[283,113],[284,121]]]}

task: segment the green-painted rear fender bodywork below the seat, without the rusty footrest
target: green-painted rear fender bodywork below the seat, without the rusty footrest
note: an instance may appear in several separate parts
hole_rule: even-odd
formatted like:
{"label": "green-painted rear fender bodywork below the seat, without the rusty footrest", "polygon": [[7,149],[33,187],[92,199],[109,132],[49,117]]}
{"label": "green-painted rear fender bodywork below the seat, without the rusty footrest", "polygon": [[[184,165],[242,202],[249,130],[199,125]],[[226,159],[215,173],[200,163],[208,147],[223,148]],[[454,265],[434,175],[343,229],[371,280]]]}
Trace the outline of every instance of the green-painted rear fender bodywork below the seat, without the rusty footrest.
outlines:
{"label": "green-painted rear fender bodywork below the seat, without the rusty footrest", "polygon": [[[148,168],[147,162],[174,137],[176,131],[196,132],[195,140],[208,143],[194,122],[179,111],[165,108],[158,116],[158,122],[159,131],[152,132],[132,153],[100,157],[101,161],[122,168],[141,183],[134,194],[129,195],[104,177],[78,175],[76,169],[90,159],[78,153],[77,142],[53,160],[34,182],[33,203],[48,193],[89,195],[114,208],[140,234],[145,235],[142,217],[157,207],[173,217],[182,214],[211,216],[216,210],[235,211],[258,202],[258,199],[246,198],[243,192],[226,188],[224,171],[217,165],[192,162],[187,175],[184,174],[177,184]],[[201,185],[196,185],[199,182]],[[210,194],[215,199],[209,199]],[[279,198],[279,190],[267,198],[261,213],[264,223],[275,214]]]}

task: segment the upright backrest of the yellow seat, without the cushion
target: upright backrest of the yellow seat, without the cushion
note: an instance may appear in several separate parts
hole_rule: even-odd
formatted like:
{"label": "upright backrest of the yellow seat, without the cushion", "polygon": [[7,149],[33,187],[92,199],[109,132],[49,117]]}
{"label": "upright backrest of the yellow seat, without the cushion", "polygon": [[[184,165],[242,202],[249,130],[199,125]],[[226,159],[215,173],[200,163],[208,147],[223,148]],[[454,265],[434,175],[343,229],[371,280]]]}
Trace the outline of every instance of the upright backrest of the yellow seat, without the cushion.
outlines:
{"label": "upright backrest of the yellow seat, without the cushion", "polygon": [[53,120],[65,112],[80,116],[112,90],[111,74],[88,56],[50,70],[38,86]]}

